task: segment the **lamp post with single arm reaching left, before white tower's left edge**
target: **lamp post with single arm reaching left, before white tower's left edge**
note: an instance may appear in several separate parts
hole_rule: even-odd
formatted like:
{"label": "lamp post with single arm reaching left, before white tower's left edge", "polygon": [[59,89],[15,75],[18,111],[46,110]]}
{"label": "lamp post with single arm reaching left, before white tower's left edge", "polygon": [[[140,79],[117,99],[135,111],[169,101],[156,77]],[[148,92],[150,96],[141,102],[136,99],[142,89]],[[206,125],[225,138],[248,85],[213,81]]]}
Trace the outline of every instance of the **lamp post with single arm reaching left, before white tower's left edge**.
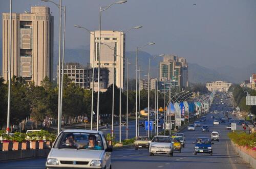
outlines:
{"label": "lamp post with single arm reaching left, before white tower's left edge", "polygon": [[[91,33],[91,31],[90,30],[88,30],[86,27],[83,27],[83,26],[80,26],[80,25],[78,25],[78,24],[74,24],[74,26],[75,27],[77,27],[77,28],[81,28],[81,29],[83,29],[83,30],[86,30],[87,32],[89,32],[91,35],[93,35],[94,36],[94,40],[95,40],[95,32],[94,32],[94,34],[92,34]],[[92,78],[92,83],[93,83],[93,89],[92,89],[92,102],[91,102],[91,130],[93,129],[93,96],[94,96],[94,61],[95,61],[95,47],[96,47],[96,45],[95,45],[95,43],[94,43],[94,51],[93,51],[93,78]],[[99,76],[99,74],[98,74],[98,76]]]}

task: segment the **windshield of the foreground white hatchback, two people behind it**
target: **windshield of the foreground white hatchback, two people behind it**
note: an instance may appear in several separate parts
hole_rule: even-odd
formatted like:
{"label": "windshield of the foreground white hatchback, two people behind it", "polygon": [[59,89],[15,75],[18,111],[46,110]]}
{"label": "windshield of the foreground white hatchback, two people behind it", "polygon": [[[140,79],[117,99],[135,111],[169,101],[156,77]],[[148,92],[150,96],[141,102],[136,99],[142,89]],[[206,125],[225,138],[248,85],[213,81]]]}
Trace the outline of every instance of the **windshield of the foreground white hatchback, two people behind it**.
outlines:
{"label": "windshield of the foreground white hatchback, two people behind it", "polygon": [[53,148],[104,150],[100,134],[86,132],[63,132]]}

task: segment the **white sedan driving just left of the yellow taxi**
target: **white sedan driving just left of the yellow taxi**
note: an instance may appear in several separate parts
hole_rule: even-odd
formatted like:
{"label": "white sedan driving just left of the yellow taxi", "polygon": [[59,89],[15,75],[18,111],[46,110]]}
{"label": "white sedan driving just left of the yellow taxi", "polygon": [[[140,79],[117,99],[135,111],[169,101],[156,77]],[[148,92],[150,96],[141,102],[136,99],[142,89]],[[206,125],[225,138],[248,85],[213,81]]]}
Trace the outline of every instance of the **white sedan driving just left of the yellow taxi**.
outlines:
{"label": "white sedan driving just left of the yellow taxi", "polygon": [[174,146],[169,136],[155,136],[150,144],[150,156],[154,154],[174,155]]}

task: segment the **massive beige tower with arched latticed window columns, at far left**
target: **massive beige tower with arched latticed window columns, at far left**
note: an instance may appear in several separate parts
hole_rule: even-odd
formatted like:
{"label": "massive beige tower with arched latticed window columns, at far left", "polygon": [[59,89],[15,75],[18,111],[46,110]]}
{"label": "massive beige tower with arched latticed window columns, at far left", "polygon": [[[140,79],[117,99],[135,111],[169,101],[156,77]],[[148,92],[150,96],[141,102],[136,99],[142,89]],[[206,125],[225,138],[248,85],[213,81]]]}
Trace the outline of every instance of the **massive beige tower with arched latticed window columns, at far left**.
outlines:
{"label": "massive beige tower with arched latticed window columns, at far left", "polygon": [[[3,13],[3,77],[8,80],[10,14]],[[12,13],[11,76],[24,77],[35,85],[47,76],[53,80],[53,16],[49,7]]]}

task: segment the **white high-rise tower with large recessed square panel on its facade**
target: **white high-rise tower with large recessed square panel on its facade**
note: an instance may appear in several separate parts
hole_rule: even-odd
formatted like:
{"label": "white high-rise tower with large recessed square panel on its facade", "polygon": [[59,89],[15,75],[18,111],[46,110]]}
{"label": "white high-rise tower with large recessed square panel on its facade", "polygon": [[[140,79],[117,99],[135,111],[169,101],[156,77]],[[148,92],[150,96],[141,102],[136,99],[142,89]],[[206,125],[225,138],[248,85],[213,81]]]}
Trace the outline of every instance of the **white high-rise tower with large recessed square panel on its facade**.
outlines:
{"label": "white high-rise tower with large recessed square panel on its facade", "polygon": [[[118,31],[101,31],[101,54],[100,54],[100,67],[109,69],[109,83],[107,86],[112,85],[113,78],[115,85],[123,88],[124,79],[124,60],[125,58],[125,35],[123,32]],[[98,68],[99,59],[99,31],[91,32],[90,42],[90,64]],[[121,69],[121,78],[120,78]]]}

